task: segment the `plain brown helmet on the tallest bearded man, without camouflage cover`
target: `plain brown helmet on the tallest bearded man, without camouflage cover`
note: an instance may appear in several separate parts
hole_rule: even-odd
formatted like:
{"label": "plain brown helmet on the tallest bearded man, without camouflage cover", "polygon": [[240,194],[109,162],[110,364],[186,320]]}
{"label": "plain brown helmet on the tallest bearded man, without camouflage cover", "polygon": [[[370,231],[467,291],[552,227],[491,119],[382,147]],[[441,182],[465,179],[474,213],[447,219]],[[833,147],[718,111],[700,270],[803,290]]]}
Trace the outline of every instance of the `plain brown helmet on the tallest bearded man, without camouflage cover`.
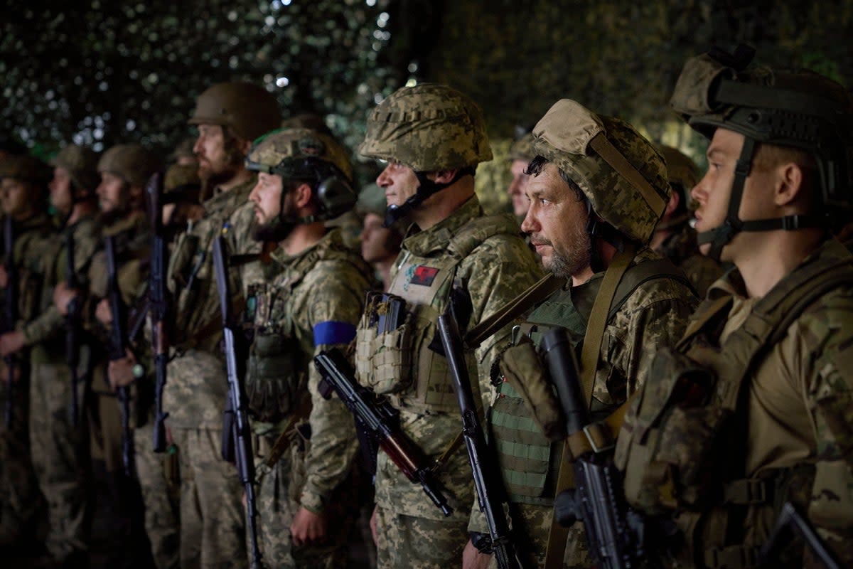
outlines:
{"label": "plain brown helmet on the tallest bearded man, without camouflage cover", "polygon": [[263,87],[241,81],[215,84],[195,102],[189,125],[230,127],[244,140],[254,140],[281,124],[281,111]]}

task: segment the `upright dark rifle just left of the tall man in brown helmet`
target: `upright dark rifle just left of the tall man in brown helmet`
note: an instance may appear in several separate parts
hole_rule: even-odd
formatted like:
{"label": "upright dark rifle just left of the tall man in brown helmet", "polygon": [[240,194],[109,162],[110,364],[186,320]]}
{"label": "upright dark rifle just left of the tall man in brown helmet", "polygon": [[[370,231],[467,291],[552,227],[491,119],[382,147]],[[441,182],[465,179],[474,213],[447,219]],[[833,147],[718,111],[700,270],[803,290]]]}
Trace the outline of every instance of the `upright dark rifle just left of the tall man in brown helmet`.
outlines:
{"label": "upright dark rifle just left of the tall man in brown helmet", "polygon": [[165,285],[166,242],[163,229],[163,175],[155,173],[145,186],[145,203],[151,222],[151,266],[148,273],[148,316],[151,319],[151,345],[154,351],[154,452],[165,452],[165,419],[163,390],[166,381],[166,364],[169,363],[169,338],[165,320],[169,308]]}

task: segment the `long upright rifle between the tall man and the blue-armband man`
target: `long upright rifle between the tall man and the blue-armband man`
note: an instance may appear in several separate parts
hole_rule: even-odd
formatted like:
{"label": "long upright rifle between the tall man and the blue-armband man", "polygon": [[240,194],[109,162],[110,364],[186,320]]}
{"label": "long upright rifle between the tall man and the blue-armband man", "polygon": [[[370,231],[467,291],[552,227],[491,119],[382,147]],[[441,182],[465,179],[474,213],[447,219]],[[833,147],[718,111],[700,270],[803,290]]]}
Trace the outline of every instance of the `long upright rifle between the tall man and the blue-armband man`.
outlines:
{"label": "long upright rifle between the tall man and the blue-armband man", "polygon": [[[231,413],[233,421],[225,421],[230,424],[233,445],[233,456],[231,459],[237,467],[240,481],[246,489],[246,521],[249,536],[252,539],[252,569],[261,567],[261,553],[258,548],[258,531],[255,528],[255,463],[252,456],[252,438],[249,428],[249,418],[246,413],[246,405],[243,403],[243,390],[241,378],[237,373],[237,352],[234,322],[231,316],[231,303],[228,281],[228,262],[225,258],[225,238],[218,235],[213,241],[213,270],[216,273],[216,286],[219,292],[219,306],[222,309],[223,351],[225,356],[225,367],[228,374],[229,401],[226,406],[226,414]],[[223,440],[228,433],[223,433]],[[226,450],[223,445],[223,456]]]}

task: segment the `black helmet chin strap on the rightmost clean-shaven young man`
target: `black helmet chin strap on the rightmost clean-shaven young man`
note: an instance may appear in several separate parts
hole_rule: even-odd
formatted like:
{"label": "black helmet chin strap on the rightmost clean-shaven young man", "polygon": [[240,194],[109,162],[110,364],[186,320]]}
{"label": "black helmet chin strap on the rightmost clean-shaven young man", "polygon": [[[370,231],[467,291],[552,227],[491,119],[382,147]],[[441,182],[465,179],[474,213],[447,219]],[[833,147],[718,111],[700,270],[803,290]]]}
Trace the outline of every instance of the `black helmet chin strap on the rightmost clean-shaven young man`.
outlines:
{"label": "black helmet chin strap on the rightmost clean-shaven young man", "polygon": [[782,218],[755,219],[743,221],[738,217],[740,211],[740,201],[743,199],[744,185],[746,177],[749,176],[752,159],[755,158],[757,141],[753,138],[746,137],[744,139],[744,148],[740,151],[737,165],[734,166],[734,181],[732,182],[732,193],[728,198],[728,212],[726,219],[722,225],[707,231],[701,231],[696,234],[696,242],[699,245],[711,243],[711,250],[708,251],[708,257],[715,261],[720,260],[722,247],[725,247],[734,239],[734,235],[741,231],[774,231],[776,229],[785,229],[793,231],[796,229],[804,229],[807,227],[821,227],[826,223],[826,220],[821,215],[795,214]]}

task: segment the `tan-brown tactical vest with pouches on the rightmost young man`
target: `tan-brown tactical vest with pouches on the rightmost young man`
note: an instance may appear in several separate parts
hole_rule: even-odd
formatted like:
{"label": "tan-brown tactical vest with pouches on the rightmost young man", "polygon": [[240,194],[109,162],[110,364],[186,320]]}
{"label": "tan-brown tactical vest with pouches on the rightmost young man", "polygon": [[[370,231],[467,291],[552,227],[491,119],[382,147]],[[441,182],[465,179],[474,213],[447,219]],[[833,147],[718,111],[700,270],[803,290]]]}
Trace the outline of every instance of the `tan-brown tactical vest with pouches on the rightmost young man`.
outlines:
{"label": "tan-brown tactical vest with pouches on the rightmost young man", "polygon": [[809,305],[850,283],[850,258],[816,259],[757,300],[722,345],[728,296],[705,301],[676,349],[654,357],[654,381],[631,404],[615,460],[632,505],[647,514],[679,512],[686,547],[675,554],[688,564],[756,566],[761,543],[743,543],[744,520],[769,528],[784,502],[802,502],[796,492],[814,478],[808,463],[746,478],[748,378]]}

